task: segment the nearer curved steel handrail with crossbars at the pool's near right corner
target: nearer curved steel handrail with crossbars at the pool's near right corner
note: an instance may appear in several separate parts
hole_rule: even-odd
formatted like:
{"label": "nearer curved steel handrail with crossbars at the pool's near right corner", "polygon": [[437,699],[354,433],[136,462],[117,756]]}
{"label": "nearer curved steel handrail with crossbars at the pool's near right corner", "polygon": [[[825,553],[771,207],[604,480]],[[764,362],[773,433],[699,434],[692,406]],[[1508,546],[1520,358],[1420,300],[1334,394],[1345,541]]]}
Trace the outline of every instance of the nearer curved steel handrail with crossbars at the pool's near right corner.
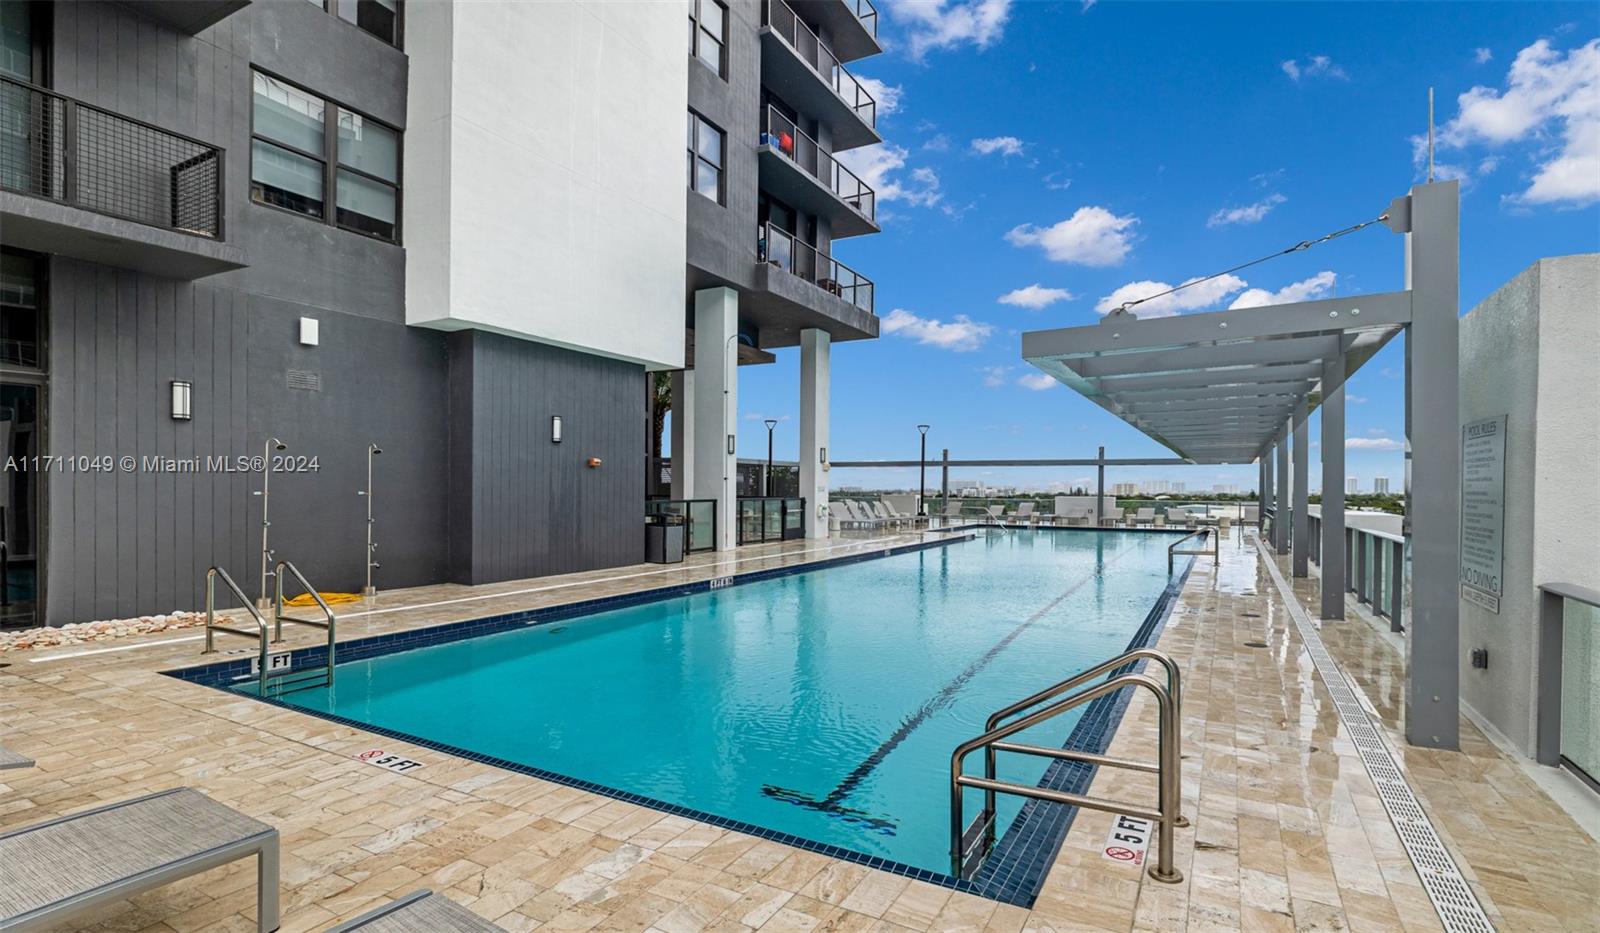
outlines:
{"label": "nearer curved steel handrail with crossbars at the pool's near right corner", "polygon": [[[1160,707],[1160,746],[1157,752],[1157,763],[1152,767],[1146,762],[1126,762],[1122,759],[1110,759],[1106,755],[1090,755],[1086,752],[1074,752],[1069,749],[1043,749],[1038,746],[1018,746],[1011,743],[1003,743],[1019,731],[1032,728],[1045,720],[1054,719],[1064,712],[1077,709],[1085,703],[1115,693],[1126,687],[1142,687],[1155,695],[1157,704]],[[1173,866],[1173,829],[1178,826],[1179,819],[1179,747],[1178,747],[1178,709],[1173,703],[1173,695],[1162,687],[1154,677],[1146,674],[1122,674],[1112,677],[1101,683],[1086,687],[1066,699],[1056,701],[1043,709],[1034,711],[1026,717],[1011,722],[1008,725],[986,731],[984,735],[965,741],[955,747],[950,754],[950,867],[955,877],[966,877],[968,851],[966,845],[966,819],[962,799],[963,787],[976,787],[986,792],[986,800],[992,799],[994,794],[1014,794],[1018,797],[1029,797],[1034,800],[1048,800],[1053,803],[1066,803],[1069,807],[1085,807],[1090,810],[1104,810],[1107,813],[1123,813],[1128,816],[1138,816],[1141,819],[1155,821],[1157,829],[1157,861],[1150,866],[1150,877],[1158,882],[1176,883],[1182,880],[1182,872]],[[974,778],[963,773],[963,762],[966,755],[978,749],[995,749],[1045,755],[1051,759],[1069,759],[1069,760],[1086,760],[1106,767],[1122,767],[1141,771],[1154,771],[1157,779],[1157,808],[1150,810],[1147,807],[1138,807],[1133,803],[1123,803],[1120,800],[1104,800],[1099,797],[1088,797],[1083,794],[1067,794],[1066,791],[1053,791],[1048,787],[1032,787],[1027,784],[1013,784],[1008,781],[998,781],[994,775],[994,768],[986,762],[986,771],[982,778]],[[987,755],[992,760],[992,755]],[[994,808],[986,802],[984,813],[979,818],[986,842],[992,839],[994,829]]]}

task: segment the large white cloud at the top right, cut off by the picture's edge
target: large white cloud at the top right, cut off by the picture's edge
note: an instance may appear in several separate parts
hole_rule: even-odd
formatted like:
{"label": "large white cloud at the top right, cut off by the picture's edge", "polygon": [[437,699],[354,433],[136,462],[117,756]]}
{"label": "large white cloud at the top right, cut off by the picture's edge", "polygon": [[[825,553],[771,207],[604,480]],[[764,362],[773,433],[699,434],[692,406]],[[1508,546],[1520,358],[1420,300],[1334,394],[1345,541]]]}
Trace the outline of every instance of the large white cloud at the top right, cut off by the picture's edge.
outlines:
{"label": "large white cloud at the top right, cut off by the picture's edge", "polygon": [[[1475,86],[1438,130],[1440,149],[1534,142],[1538,170],[1520,203],[1600,200],[1600,38],[1560,53],[1547,38],[1517,53],[1506,88]],[[1426,146],[1419,146],[1426,158]],[[1437,166],[1435,166],[1437,173]]]}

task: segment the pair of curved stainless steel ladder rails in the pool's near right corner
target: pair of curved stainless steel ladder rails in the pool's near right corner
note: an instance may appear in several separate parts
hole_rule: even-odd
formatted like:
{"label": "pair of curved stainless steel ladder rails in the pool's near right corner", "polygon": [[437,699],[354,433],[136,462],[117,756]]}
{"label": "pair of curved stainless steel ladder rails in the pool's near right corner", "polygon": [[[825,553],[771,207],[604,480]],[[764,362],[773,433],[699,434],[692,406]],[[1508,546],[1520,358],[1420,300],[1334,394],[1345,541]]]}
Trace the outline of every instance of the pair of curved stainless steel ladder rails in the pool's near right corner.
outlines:
{"label": "pair of curved stainless steel ladder rails in the pool's near right corner", "polygon": [[[1166,669],[1166,683],[1162,685],[1154,677],[1146,674],[1136,674],[1133,671],[1118,674],[1101,683],[1085,687],[1096,677],[1106,674],[1107,671],[1115,671],[1123,666],[1130,666],[1139,659],[1150,659],[1158,663]],[[1155,701],[1160,709],[1160,744],[1157,751],[1157,760],[1152,762],[1136,762],[1130,759],[1117,759],[1110,755],[1098,755],[1091,752],[1077,752],[1070,749],[1050,749],[1042,746],[1029,746],[1005,741],[1010,736],[1032,728],[1045,720],[1054,719],[1067,711],[1077,709],[1085,703],[1096,698],[1115,693],[1125,687],[1142,687],[1155,695]],[[1082,688],[1082,690],[1080,690]],[[1048,699],[1054,699],[1062,693],[1077,691],[1066,699],[1056,701],[1043,709],[1037,709],[1016,722],[1002,725],[1003,720],[1014,717],[1030,707],[1038,706]],[[1040,690],[1038,693],[1019,699],[1011,706],[997,711],[984,723],[984,735],[962,743],[957,746],[955,752],[950,755],[950,872],[958,879],[970,879],[978,872],[984,858],[994,850],[995,845],[995,795],[1011,794],[1016,797],[1029,797],[1034,800],[1048,800],[1051,803],[1066,803],[1069,807],[1086,807],[1090,810],[1102,810],[1107,813],[1123,813],[1128,816],[1138,816],[1141,819],[1149,819],[1157,824],[1157,859],[1150,866],[1150,877],[1158,882],[1176,883],[1182,880],[1182,872],[1173,866],[1173,829],[1179,826],[1189,826],[1189,821],[1182,816],[1182,789],[1181,789],[1181,743],[1182,743],[1182,683],[1178,671],[1178,663],[1171,659],[1165,651],[1157,651],[1155,648],[1134,648],[1118,655],[1109,661],[1102,661],[1088,671],[1074,674],[1061,683],[1054,683]],[[963,762],[966,755],[984,751],[984,776],[966,775],[963,771]],[[1085,762],[1090,765],[1099,765],[1106,768],[1125,768],[1130,771],[1144,771],[1157,776],[1157,805],[1155,808],[1139,807],[1134,803],[1125,803],[1120,800],[1106,800],[1101,797],[1086,797],[1082,794],[1067,794],[1064,791],[1053,791],[1048,787],[1034,787],[1029,784],[1013,784],[1008,781],[1000,781],[995,778],[995,752],[1016,752],[1022,755],[1038,755],[1045,759],[1059,759],[1069,762]],[[966,824],[966,815],[963,807],[963,787],[979,787],[984,792],[984,808]]]}

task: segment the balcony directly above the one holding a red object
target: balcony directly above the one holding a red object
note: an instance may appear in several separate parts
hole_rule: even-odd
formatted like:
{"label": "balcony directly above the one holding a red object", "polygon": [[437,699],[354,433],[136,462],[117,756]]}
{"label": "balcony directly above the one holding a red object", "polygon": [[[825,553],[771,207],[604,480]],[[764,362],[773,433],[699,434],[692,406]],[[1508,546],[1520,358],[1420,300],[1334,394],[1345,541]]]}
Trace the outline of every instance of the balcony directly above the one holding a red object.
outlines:
{"label": "balcony directly above the one holding a red object", "polygon": [[835,152],[883,141],[877,101],[784,0],[762,3],[762,83],[816,114]]}

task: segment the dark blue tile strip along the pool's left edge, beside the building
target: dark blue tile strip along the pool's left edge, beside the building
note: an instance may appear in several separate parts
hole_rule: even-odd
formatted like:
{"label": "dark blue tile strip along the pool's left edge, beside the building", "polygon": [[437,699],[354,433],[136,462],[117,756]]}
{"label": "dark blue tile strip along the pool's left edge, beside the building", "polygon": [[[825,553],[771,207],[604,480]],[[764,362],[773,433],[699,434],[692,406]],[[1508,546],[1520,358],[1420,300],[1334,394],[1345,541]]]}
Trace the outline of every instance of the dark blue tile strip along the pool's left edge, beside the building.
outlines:
{"label": "dark blue tile strip along the pool's left edge, beside the building", "polygon": [[[501,613],[494,616],[483,616],[480,619],[464,619],[458,623],[440,623],[437,626],[422,626],[418,629],[408,629],[403,632],[389,632],[386,635],[368,635],[365,639],[350,639],[349,642],[339,642],[334,645],[338,651],[338,663],[344,664],[347,661],[365,661],[368,658],[379,658],[382,655],[394,655],[398,651],[411,651],[414,648],[429,648],[434,645],[443,645],[448,642],[459,642],[462,639],[477,639],[480,635],[493,635],[498,632],[510,632],[515,629],[525,629],[530,626],[542,626],[547,623],[558,623],[563,619],[571,619],[576,616],[587,616],[594,613],[603,613],[611,610],[621,610],[637,605],[646,605],[653,602],[662,602],[669,599],[694,595],[701,592],[709,592],[714,589],[725,589],[730,586],[744,586],[749,583],[762,583],[766,579],[776,579],[781,576],[792,576],[795,573],[810,573],[813,570],[827,570],[830,567],[845,567],[850,563],[861,563],[864,560],[880,560],[883,557],[896,557],[901,554],[910,554],[915,551],[930,551],[934,547],[947,547],[950,544],[958,544],[962,541],[971,541],[976,535],[949,536],[934,541],[918,541],[915,544],[898,544],[894,547],[875,547],[870,551],[858,551],[854,554],[843,554],[840,557],[826,557],[822,560],[810,560],[805,563],[794,563],[787,567],[773,567],[766,570],[752,570],[749,573],[736,573],[730,576],[712,576],[707,579],[698,579],[694,583],[675,583],[672,586],[662,586],[656,589],[642,589],[629,594],[618,594],[608,597],[598,597],[590,600],[578,600],[570,603],[555,603],[549,607],[539,607],[534,610],[517,610],[514,613]],[[597,581],[598,583],[598,581]],[[509,594],[507,594],[509,595]],[[328,647],[312,645],[307,648],[296,648],[288,651],[290,667],[317,667],[326,663]],[[254,677],[251,672],[251,663],[254,655],[235,656],[229,661],[211,661],[208,664],[195,664],[190,667],[176,667],[171,671],[163,671],[168,677],[176,677],[179,680],[187,680],[190,683],[200,683],[203,687],[219,687],[227,688],[237,683],[243,683]],[[296,707],[299,709],[299,707]]]}

